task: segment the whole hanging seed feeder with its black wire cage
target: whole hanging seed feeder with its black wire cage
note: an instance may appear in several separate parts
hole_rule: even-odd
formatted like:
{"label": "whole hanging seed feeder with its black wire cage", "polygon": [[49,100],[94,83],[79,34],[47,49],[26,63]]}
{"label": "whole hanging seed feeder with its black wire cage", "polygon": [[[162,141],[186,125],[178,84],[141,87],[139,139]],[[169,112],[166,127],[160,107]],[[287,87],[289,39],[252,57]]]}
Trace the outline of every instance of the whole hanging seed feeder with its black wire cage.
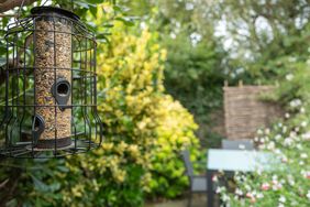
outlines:
{"label": "whole hanging seed feeder with its black wire cage", "polygon": [[36,7],[8,25],[1,154],[51,157],[102,141],[97,111],[96,40],[79,17]]}

